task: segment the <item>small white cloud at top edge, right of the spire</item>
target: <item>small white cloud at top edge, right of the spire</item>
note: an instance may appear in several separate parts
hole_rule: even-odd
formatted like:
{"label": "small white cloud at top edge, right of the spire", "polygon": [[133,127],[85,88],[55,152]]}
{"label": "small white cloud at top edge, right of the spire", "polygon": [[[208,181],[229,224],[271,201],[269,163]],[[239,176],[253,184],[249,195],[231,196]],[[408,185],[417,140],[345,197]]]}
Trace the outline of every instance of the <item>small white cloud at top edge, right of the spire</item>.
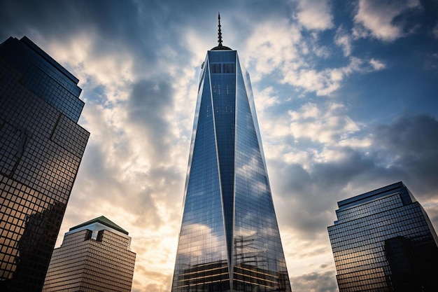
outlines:
{"label": "small white cloud at top edge, right of the spire", "polygon": [[333,27],[330,1],[295,0],[296,18],[306,29],[325,30]]}

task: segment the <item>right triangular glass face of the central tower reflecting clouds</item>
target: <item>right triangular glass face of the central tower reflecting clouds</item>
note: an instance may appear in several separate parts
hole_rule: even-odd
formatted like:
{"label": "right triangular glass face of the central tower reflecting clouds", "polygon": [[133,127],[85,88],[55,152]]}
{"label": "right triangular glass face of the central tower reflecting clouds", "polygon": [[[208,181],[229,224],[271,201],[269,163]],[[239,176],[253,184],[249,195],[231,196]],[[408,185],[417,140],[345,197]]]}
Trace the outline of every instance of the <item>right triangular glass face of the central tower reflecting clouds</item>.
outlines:
{"label": "right triangular glass face of the central tower reflecting clouds", "polygon": [[[237,67],[234,290],[290,291],[257,119]],[[251,92],[252,93],[252,92]]]}

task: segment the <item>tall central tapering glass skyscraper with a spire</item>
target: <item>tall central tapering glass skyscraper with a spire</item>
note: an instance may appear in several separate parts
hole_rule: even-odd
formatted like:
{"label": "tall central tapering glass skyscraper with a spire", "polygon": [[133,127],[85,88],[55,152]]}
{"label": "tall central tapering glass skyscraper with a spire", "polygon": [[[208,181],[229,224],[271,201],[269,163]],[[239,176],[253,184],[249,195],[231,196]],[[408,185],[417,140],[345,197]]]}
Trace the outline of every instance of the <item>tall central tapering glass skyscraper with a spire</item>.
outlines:
{"label": "tall central tapering glass skyscraper with a spire", "polygon": [[290,291],[249,75],[236,50],[202,64],[172,292]]}

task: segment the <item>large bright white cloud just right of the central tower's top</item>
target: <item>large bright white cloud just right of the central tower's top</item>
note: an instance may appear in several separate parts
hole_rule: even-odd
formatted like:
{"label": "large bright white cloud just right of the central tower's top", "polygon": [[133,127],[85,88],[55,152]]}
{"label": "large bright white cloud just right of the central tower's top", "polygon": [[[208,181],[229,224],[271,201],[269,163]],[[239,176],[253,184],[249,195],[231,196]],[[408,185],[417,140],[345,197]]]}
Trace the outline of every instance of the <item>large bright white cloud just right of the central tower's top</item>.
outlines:
{"label": "large bright white cloud just right of the central tower's top", "polygon": [[253,28],[244,52],[249,56],[247,67],[253,67],[252,72],[255,72],[253,82],[271,75],[283,84],[295,86],[297,91],[330,96],[351,74],[386,68],[381,60],[351,56],[353,36],[342,27],[337,29],[334,43],[341,47],[346,58],[334,63],[341,64],[338,67],[327,65],[330,64],[327,60],[332,55],[332,47],[325,46],[317,32],[304,37],[302,29],[296,22],[281,18],[260,22]]}

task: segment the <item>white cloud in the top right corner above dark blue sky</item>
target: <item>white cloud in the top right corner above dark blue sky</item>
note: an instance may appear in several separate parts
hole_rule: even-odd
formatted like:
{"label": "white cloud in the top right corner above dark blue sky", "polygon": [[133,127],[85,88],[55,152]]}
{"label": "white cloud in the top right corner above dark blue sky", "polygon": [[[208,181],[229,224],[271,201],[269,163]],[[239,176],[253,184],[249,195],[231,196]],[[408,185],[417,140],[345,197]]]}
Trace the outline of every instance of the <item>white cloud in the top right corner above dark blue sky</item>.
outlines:
{"label": "white cloud in the top right corner above dark blue sky", "polygon": [[356,38],[371,35],[382,41],[394,41],[404,33],[402,25],[396,25],[393,20],[404,11],[419,6],[418,0],[360,0],[353,35]]}

